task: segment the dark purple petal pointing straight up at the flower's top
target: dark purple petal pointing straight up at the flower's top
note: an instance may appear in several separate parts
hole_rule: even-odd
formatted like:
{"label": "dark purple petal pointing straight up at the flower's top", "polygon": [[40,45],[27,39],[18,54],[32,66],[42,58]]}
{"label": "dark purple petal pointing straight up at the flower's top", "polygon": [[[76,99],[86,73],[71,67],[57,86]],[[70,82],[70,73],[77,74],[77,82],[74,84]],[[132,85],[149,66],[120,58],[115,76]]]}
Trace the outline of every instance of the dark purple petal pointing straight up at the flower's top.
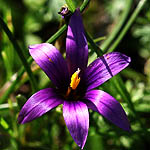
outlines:
{"label": "dark purple petal pointing straight up at the flower's top", "polygon": [[84,27],[80,10],[71,16],[66,39],[66,59],[69,73],[72,75],[77,68],[84,70],[88,62],[88,44],[84,34]]}

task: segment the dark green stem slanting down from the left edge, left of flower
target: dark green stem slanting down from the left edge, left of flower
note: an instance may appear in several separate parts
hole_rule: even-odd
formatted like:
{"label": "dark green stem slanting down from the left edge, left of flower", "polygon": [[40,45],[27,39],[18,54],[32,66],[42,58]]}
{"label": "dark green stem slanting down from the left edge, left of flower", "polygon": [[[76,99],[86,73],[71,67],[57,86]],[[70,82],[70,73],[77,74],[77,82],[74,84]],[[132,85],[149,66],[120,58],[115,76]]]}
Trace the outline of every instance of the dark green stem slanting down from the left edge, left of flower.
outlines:
{"label": "dark green stem slanting down from the left edge, left of flower", "polygon": [[29,75],[33,91],[36,91],[36,89],[37,89],[36,81],[34,79],[32,71],[26,61],[26,58],[24,57],[24,54],[23,54],[21,48],[19,47],[16,39],[14,38],[11,31],[9,30],[9,28],[7,27],[7,25],[5,24],[5,22],[3,21],[3,19],[1,17],[0,17],[0,25],[1,25],[2,29],[5,31],[5,33],[7,34],[9,40],[12,42],[14,49],[16,50],[18,56],[20,57],[20,60]]}

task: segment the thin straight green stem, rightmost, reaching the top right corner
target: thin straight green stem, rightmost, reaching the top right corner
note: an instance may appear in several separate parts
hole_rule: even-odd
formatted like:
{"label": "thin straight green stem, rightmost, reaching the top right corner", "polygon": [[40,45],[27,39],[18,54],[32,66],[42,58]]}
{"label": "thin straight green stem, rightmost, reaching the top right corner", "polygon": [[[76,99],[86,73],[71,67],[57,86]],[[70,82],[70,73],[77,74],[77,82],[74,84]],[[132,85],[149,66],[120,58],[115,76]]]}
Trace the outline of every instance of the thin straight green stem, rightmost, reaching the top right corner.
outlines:
{"label": "thin straight green stem, rightmost, reaching the top right corner", "polygon": [[119,34],[117,40],[113,43],[113,45],[111,46],[111,48],[108,50],[108,52],[114,51],[114,49],[121,42],[121,40],[123,39],[123,37],[125,36],[125,34],[127,33],[127,31],[129,30],[129,28],[131,27],[131,25],[135,21],[136,17],[138,16],[138,14],[140,13],[140,11],[142,10],[142,8],[143,8],[144,4],[146,3],[146,1],[147,0],[141,0],[139,2],[138,6],[134,10],[134,12],[133,12],[132,16],[130,17],[129,21],[127,22],[127,24],[125,25],[125,27],[123,28],[123,30],[121,31],[121,33]]}

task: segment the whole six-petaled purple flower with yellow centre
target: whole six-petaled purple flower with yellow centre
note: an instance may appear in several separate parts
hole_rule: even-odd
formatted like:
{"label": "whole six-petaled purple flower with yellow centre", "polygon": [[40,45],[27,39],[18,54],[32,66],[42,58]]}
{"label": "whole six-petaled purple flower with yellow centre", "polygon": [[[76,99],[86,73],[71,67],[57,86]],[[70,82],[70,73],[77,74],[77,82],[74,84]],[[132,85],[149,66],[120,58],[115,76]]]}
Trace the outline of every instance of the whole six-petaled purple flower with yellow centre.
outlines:
{"label": "whole six-petaled purple flower with yellow centre", "polygon": [[88,44],[78,9],[68,25],[66,60],[53,45],[47,43],[32,45],[29,51],[56,88],[46,88],[32,95],[19,113],[19,123],[32,121],[63,104],[64,120],[81,149],[88,135],[88,108],[116,126],[130,130],[129,121],[119,102],[104,91],[93,90],[126,68],[130,58],[112,52],[97,58],[87,67]]}

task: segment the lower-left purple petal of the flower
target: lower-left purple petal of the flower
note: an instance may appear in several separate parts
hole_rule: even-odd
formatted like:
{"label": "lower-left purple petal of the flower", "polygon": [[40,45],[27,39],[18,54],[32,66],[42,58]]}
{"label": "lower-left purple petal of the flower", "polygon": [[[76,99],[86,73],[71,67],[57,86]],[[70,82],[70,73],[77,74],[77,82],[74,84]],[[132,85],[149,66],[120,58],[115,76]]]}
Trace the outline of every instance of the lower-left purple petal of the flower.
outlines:
{"label": "lower-left purple petal of the flower", "polygon": [[32,121],[56,106],[63,103],[55,89],[47,88],[32,95],[22,107],[18,122],[21,124]]}

